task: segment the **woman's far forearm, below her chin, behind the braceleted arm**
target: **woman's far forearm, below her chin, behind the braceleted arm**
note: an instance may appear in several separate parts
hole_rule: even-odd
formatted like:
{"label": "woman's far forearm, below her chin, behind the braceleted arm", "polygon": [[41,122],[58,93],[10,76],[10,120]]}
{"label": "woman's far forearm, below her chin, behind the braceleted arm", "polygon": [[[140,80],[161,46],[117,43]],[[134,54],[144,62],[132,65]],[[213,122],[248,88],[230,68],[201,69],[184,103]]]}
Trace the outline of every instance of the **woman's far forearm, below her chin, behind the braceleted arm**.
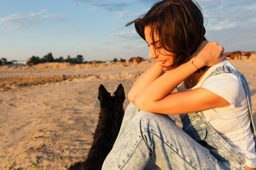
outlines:
{"label": "woman's far forearm, below her chin, behind the braceleted arm", "polygon": [[134,104],[134,100],[139,94],[152,82],[159,78],[164,73],[158,63],[154,63],[147,71],[145,71],[133,84],[128,94],[128,99]]}

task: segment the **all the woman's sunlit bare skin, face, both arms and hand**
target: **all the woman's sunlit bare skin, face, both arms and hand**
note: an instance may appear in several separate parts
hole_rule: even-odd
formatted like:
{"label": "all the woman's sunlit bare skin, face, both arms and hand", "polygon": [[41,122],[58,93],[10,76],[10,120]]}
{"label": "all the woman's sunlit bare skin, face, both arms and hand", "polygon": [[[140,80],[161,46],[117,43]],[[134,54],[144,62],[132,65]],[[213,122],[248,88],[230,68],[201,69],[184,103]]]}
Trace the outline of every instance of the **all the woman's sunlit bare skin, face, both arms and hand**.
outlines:
{"label": "all the woman's sunlit bare skin, face, both arms and hand", "polygon": [[[191,113],[230,105],[228,101],[205,88],[171,94],[177,85],[197,69],[187,62],[164,73],[163,66],[172,64],[172,53],[164,49],[154,49],[150,27],[145,27],[144,34],[150,45],[148,57],[155,59],[156,63],[134,83],[128,95],[131,103],[143,111],[163,114]],[[157,38],[154,37],[155,40]],[[204,41],[198,49],[191,58],[199,68],[215,65],[226,56],[222,54],[224,51],[222,46],[216,42]],[[200,71],[200,74],[195,75],[195,82],[197,83],[204,74],[205,71]]]}

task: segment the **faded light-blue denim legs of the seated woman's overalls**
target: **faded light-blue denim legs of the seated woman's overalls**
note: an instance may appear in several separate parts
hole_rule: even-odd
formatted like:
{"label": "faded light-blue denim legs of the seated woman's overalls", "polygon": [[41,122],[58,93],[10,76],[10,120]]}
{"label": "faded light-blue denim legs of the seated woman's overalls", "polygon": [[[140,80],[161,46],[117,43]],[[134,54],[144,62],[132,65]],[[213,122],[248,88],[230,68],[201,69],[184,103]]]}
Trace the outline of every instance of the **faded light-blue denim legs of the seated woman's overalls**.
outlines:
{"label": "faded light-blue denim legs of the seated woman's overalls", "polygon": [[[202,118],[201,115],[199,117]],[[190,121],[187,117],[183,118],[185,126],[188,125],[185,129],[188,133],[193,131]],[[206,130],[203,132],[206,137],[205,133]],[[192,137],[194,135],[201,139],[197,133],[192,133]],[[233,150],[226,151],[226,155],[229,154],[240,157]],[[168,115],[139,111],[130,103],[102,169],[144,169],[150,159],[161,169],[245,169],[240,159],[232,165],[229,162],[223,164],[224,159],[215,158],[207,147],[180,129]]]}

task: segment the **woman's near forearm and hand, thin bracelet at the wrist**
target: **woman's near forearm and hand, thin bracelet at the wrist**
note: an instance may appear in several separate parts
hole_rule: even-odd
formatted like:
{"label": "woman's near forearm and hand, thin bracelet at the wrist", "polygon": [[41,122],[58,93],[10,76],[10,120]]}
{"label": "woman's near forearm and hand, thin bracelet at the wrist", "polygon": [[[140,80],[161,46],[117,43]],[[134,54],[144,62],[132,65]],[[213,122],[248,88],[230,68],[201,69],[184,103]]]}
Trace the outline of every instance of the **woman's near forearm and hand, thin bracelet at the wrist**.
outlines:
{"label": "woman's near forearm and hand, thin bracelet at the wrist", "polygon": [[[152,82],[136,97],[136,99],[134,99],[135,105],[144,111],[151,111],[148,110],[148,108],[156,107],[156,103],[166,99],[166,97],[170,95],[181,82],[183,82],[183,80],[195,73],[197,68],[200,69],[203,66],[213,66],[221,62],[225,58],[223,51],[223,47],[216,42],[201,42],[196,53],[191,56],[195,66],[188,61],[175,69],[167,71],[167,73]],[[181,100],[187,100],[187,97],[189,96],[183,97],[184,99]],[[168,101],[170,100],[172,100],[171,95],[168,97]],[[166,102],[160,103],[168,104],[167,100],[164,101]],[[159,107],[162,107],[162,105],[159,105]],[[158,108],[152,108],[154,111],[157,109]]]}

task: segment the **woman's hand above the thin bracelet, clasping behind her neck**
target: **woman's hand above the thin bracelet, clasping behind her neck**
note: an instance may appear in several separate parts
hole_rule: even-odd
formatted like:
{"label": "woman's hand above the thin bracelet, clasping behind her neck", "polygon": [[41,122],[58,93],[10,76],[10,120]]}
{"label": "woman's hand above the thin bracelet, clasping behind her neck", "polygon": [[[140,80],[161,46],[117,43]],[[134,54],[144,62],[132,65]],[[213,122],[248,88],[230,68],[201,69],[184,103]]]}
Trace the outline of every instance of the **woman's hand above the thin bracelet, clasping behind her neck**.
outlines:
{"label": "woman's hand above the thin bracelet, clasping behind her neck", "polygon": [[191,59],[196,57],[200,59],[203,66],[213,66],[220,63],[226,58],[226,53],[222,45],[217,42],[202,41],[196,49],[196,52],[191,55]]}

